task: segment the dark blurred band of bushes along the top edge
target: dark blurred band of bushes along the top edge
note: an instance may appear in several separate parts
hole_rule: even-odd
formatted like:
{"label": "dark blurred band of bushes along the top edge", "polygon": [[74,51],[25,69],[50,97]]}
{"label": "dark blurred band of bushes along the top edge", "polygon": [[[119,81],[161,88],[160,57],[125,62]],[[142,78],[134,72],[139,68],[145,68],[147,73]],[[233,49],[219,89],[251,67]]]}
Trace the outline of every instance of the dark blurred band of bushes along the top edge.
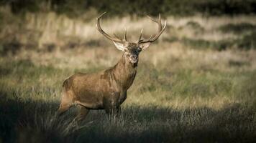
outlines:
{"label": "dark blurred band of bushes along the top edge", "polygon": [[68,16],[81,16],[88,9],[109,11],[111,15],[166,14],[175,16],[255,14],[254,0],[1,0],[1,5],[10,5],[12,12],[55,11]]}

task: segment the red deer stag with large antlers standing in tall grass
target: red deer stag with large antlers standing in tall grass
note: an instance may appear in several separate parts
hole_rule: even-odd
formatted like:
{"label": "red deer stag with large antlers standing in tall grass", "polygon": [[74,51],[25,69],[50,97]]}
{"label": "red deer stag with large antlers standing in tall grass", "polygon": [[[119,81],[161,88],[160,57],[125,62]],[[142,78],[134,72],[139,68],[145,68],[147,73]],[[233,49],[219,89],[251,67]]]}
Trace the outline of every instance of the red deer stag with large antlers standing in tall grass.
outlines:
{"label": "red deer stag with large antlers standing in tall grass", "polygon": [[[106,12],[104,13],[106,14]],[[78,104],[80,111],[76,119],[81,120],[90,109],[105,109],[107,114],[120,112],[120,105],[127,98],[127,90],[131,87],[137,72],[137,63],[140,51],[147,49],[157,40],[166,27],[161,24],[161,18],[152,19],[157,23],[158,32],[150,39],[142,39],[142,31],[137,42],[127,41],[127,31],[124,39],[109,36],[101,29],[100,19],[97,18],[96,28],[107,39],[113,41],[117,49],[123,51],[122,58],[113,67],[93,74],[78,73],[63,82],[63,97],[58,109],[58,114],[67,111],[73,104]]]}

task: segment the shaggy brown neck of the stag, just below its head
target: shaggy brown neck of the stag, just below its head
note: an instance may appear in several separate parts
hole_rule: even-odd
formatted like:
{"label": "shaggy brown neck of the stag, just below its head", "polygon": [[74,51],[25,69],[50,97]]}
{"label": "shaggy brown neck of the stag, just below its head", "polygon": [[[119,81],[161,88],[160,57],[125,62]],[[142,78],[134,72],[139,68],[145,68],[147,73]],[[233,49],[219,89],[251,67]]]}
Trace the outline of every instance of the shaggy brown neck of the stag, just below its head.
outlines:
{"label": "shaggy brown neck of the stag, just below its head", "polygon": [[121,87],[124,90],[127,90],[129,89],[129,87],[131,87],[132,82],[134,81],[134,78],[136,76],[136,73],[137,63],[130,63],[127,59],[125,59],[124,54],[122,56],[122,59],[120,59],[113,68],[113,74],[116,83],[119,84],[119,87]]}

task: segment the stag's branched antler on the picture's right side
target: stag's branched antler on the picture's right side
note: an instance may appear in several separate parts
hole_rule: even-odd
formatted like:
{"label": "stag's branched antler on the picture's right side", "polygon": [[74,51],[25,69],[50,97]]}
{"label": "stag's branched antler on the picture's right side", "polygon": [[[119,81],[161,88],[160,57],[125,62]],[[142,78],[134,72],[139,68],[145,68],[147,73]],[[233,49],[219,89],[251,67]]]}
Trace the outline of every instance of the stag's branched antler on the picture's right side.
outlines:
{"label": "stag's branched antler on the picture's right side", "polygon": [[163,31],[165,31],[165,27],[166,27],[166,24],[167,24],[167,21],[165,20],[165,25],[162,27],[162,24],[161,24],[161,15],[159,14],[159,19],[156,20],[156,19],[153,19],[152,17],[150,16],[147,16],[149,19],[151,19],[152,21],[154,21],[155,23],[158,24],[158,33],[155,34],[155,36],[150,36],[150,39],[147,39],[147,40],[141,40],[141,37],[142,37],[142,32],[140,33],[140,39],[138,41],[139,44],[142,44],[142,43],[147,43],[147,42],[153,42],[155,40],[158,39],[158,37],[163,33]]}

